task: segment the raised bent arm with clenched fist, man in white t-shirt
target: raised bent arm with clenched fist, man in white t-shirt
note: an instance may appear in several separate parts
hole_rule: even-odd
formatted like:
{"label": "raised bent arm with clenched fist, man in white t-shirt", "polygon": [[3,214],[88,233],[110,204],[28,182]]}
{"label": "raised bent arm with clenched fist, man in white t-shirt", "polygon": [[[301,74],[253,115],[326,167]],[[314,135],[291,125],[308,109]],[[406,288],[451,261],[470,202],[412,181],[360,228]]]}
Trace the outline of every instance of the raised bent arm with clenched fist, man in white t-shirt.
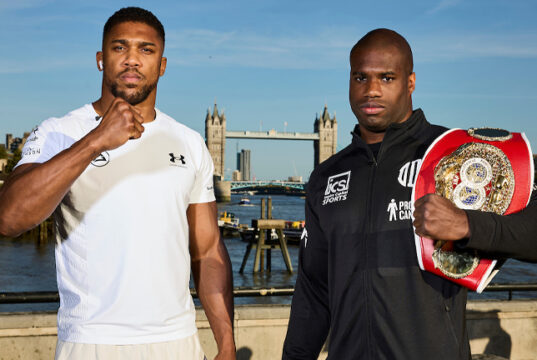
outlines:
{"label": "raised bent arm with clenched fist, man in white t-shirt", "polygon": [[102,151],[139,138],[142,123],[138,110],[115,99],[99,126],[70,148],[44,163],[17,167],[0,188],[0,234],[17,236],[49,217],[89,163]]}

